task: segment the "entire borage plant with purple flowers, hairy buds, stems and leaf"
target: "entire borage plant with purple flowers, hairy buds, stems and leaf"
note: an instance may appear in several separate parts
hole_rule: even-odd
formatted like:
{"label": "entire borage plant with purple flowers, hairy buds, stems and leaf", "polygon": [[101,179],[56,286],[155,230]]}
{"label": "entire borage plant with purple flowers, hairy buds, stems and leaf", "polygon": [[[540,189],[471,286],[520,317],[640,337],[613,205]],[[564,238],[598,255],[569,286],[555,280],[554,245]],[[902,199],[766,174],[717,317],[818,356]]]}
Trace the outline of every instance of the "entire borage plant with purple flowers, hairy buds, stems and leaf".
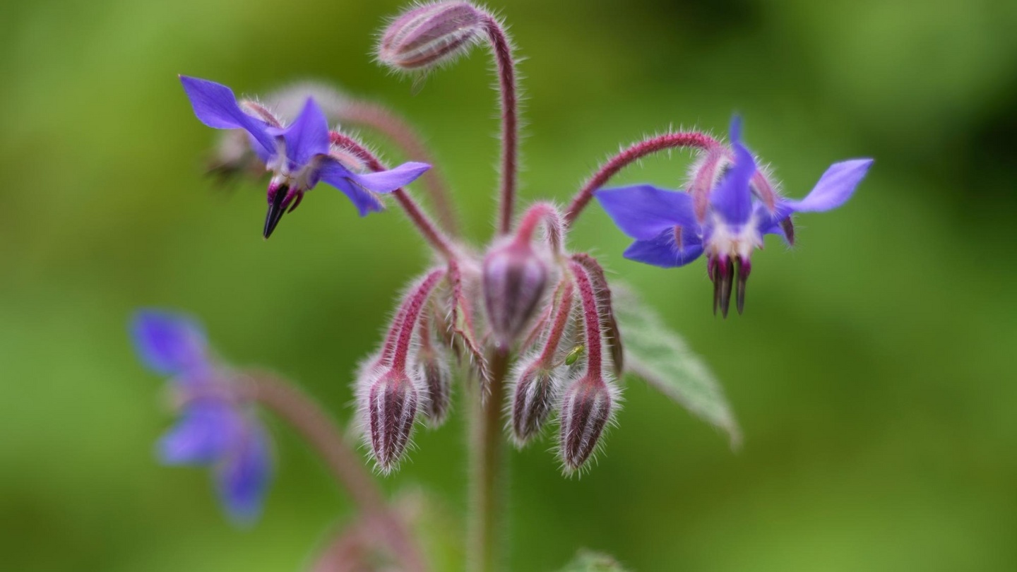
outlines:
{"label": "entire borage plant with purple flowers, hairy buds, stems and leaf", "polygon": [[[591,201],[596,197],[636,240],[625,251],[631,260],[670,268],[706,254],[714,311],[726,317],[732,292],[738,311],[744,308],[751,254],[763,237],[778,234],[792,243],[791,216],[840,206],[872,163],[834,164],[805,198],[785,198],[741,142],[735,118],[727,142],[699,131],[641,140],[606,161],[565,209],[537,202],[517,218],[518,87],[502,24],[468,2],[419,5],[392,20],[376,56],[392,69],[423,73],[484,42],[498,79],[501,158],[496,234],[483,250],[460,239],[445,185],[435,170],[425,174],[427,163],[387,169],[360,140],[330,127],[342,122],[377,130],[408,156],[429,162],[413,129],[384,107],[319,84],[238,100],[225,85],[180,78],[197,118],[226,130],[213,170],[273,173],[266,238],[306,192],[325,183],[344,192],[361,216],[381,211],[384,197],[394,197],[430,246],[431,267],[410,282],[377,351],[356,370],[357,416],[365,449],[377,472],[387,475],[406,457],[416,425],[441,424],[454,387],[465,390],[472,414],[468,566],[478,571],[500,563],[505,444],[524,447],[556,422],[562,472],[589,468],[618,410],[626,374],[722,428],[732,444],[739,439],[720,387],[680,338],[630,290],[609,283],[595,258],[569,250],[569,229]],[[685,191],[602,188],[639,159],[676,148],[698,156]],[[421,175],[437,220],[403,188]],[[267,436],[256,417],[260,405],[308,439],[363,513],[337,536],[317,569],[360,570],[368,562],[428,569],[404,515],[383,501],[344,435],[313,401],[267,374],[223,365],[187,319],[141,312],[134,337],[145,362],[176,380],[181,419],[161,442],[163,459],[213,467],[235,519],[259,514],[272,473]],[[620,569],[592,554],[582,554],[569,569],[597,566]]]}

